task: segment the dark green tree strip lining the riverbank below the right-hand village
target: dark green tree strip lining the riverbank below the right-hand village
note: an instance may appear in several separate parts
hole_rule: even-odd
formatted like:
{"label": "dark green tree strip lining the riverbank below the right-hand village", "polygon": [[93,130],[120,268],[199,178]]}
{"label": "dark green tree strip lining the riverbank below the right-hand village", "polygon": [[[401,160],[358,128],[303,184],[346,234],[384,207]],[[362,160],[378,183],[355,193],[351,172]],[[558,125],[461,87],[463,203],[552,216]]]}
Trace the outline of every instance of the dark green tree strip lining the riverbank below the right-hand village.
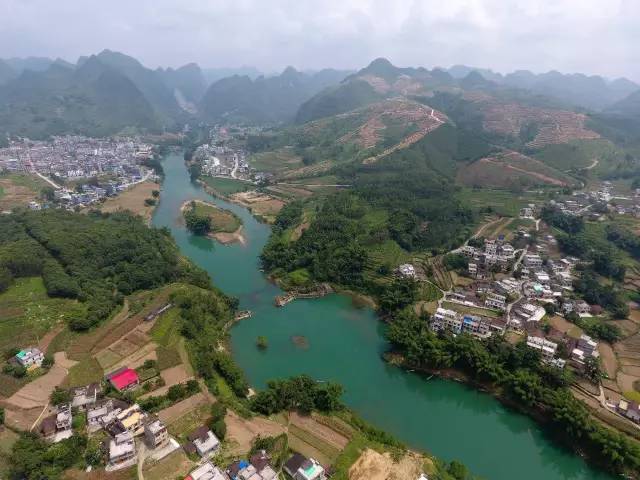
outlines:
{"label": "dark green tree strip lining the riverbank below the right-hand village", "polygon": [[478,340],[468,335],[436,335],[424,319],[404,312],[394,319],[389,340],[411,368],[456,368],[470,379],[538,418],[569,448],[586,454],[617,473],[637,472],[640,445],[602,426],[567,388],[567,372],[540,362],[539,353],[520,343],[515,347],[499,337]]}

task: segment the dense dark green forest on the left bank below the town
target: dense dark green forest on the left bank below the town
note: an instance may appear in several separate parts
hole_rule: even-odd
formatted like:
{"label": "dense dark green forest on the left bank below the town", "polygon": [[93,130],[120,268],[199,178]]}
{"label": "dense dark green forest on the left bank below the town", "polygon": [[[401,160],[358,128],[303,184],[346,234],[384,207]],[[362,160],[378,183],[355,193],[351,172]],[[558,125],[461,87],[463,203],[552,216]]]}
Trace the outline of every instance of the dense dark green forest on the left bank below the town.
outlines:
{"label": "dense dark green forest on the left bank below the town", "polygon": [[0,217],[0,290],[27,276],[42,276],[50,296],[86,306],[70,320],[75,330],[103,321],[136,290],[176,281],[209,285],[167,230],[148,228],[129,213],[47,210]]}

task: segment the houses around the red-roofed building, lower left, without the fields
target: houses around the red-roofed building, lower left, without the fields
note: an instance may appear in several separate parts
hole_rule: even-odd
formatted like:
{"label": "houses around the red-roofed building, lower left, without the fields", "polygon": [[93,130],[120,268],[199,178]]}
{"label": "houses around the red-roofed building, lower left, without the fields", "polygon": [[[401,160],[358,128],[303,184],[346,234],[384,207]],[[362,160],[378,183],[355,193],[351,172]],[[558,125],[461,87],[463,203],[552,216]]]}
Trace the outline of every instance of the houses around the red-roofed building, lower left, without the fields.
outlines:
{"label": "houses around the red-roofed building, lower left, without the fields", "polygon": [[[37,348],[19,351],[14,358],[16,364],[27,370],[41,368],[44,354]],[[169,434],[167,425],[157,415],[145,412],[137,403],[127,401],[139,389],[144,379],[134,369],[121,367],[108,373],[101,383],[92,383],[71,388],[67,392],[57,392],[66,396],[68,403],[60,403],[55,412],[44,417],[38,432],[47,441],[60,442],[70,438],[79,427],[74,417],[83,417],[83,427],[90,435],[102,438],[105,470],[107,472],[129,468],[146,459],[158,462],[177,449],[183,449],[190,458],[197,459],[197,467],[186,479],[191,480],[273,480],[278,473],[270,464],[271,459],[264,450],[259,450],[247,459],[240,459],[229,465],[217,466],[212,458],[221,447],[221,440],[207,425],[201,425],[186,436],[180,445]],[[170,387],[176,390],[176,386]],[[189,380],[177,387],[189,393],[199,391],[196,380]],[[75,427],[74,427],[75,426]],[[298,453],[292,455],[283,466],[294,480],[324,480],[325,469],[313,458]]]}

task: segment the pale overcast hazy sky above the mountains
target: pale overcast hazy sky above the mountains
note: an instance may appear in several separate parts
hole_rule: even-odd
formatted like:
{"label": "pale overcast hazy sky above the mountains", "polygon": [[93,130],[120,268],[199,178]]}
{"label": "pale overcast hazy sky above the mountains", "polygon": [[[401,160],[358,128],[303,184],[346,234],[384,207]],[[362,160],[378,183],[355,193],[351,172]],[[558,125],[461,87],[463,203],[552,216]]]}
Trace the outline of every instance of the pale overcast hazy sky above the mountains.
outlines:
{"label": "pale overcast hazy sky above the mountains", "polygon": [[640,0],[0,0],[0,57],[150,67],[467,64],[640,80]]}

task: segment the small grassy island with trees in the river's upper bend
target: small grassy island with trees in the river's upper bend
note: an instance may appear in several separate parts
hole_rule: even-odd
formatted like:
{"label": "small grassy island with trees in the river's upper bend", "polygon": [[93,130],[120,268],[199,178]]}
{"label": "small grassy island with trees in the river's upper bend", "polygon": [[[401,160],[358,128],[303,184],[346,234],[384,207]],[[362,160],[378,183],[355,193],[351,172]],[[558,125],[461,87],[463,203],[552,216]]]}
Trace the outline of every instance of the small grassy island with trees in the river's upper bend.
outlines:
{"label": "small grassy island with trees in the river's upper bend", "polygon": [[187,228],[196,235],[207,235],[225,245],[246,243],[242,220],[229,210],[202,200],[191,200],[182,204],[181,211]]}

